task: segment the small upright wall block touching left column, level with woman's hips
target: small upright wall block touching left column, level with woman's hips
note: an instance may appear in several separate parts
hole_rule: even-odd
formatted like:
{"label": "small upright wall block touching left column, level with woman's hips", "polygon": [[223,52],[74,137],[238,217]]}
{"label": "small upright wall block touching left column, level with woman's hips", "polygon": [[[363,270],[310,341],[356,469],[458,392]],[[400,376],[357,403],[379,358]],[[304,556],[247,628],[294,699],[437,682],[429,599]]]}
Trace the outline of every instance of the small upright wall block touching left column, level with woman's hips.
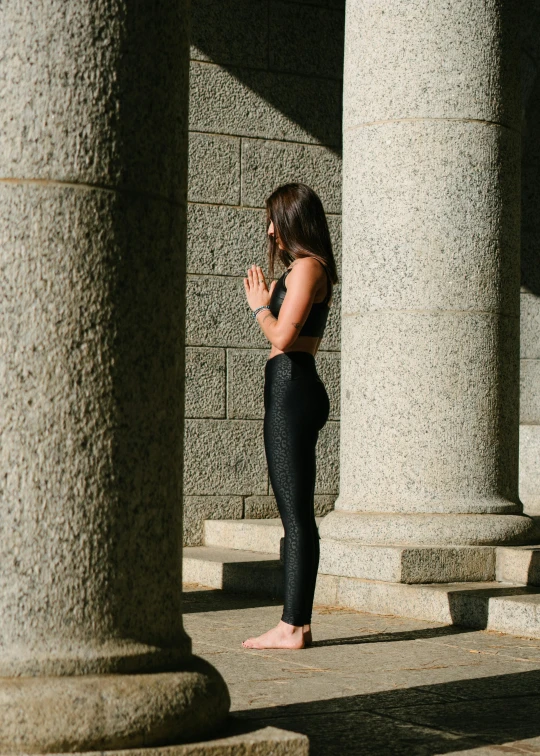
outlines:
{"label": "small upright wall block touching left column, level with woman's hips", "polygon": [[186,417],[225,417],[225,350],[186,349]]}

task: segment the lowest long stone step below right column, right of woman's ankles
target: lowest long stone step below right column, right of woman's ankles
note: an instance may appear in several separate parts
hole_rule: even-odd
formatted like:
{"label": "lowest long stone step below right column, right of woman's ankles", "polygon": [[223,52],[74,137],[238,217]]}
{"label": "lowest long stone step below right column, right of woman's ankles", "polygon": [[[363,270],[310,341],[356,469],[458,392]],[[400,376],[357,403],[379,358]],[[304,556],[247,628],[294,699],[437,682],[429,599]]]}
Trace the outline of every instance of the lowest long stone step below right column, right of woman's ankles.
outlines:
{"label": "lowest long stone step below right column, right of woman's ankles", "polygon": [[525,585],[407,585],[319,574],[315,603],[540,638],[540,589]]}

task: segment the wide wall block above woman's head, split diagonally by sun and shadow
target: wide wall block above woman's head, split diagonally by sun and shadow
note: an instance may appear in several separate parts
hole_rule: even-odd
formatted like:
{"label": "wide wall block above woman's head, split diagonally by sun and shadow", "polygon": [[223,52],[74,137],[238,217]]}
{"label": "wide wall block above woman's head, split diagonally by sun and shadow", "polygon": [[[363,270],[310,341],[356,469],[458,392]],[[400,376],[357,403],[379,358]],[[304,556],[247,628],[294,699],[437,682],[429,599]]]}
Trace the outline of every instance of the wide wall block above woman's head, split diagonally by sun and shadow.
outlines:
{"label": "wide wall block above woman's head, split diagonally by sun and shadow", "polygon": [[190,128],[215,134],[341,143],[341,82],[193,62]]}

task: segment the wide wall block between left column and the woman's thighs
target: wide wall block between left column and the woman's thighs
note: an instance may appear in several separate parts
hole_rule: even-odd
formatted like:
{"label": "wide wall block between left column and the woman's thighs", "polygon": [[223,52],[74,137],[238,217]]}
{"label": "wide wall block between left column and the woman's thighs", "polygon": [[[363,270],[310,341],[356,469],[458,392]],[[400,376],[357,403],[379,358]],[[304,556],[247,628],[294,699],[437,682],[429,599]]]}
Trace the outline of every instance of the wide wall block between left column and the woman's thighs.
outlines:
{"label": "wide wall block between left column and the woman's thighs", "polygon": [[260,420],[186,420],[184,493],[266,493]]}

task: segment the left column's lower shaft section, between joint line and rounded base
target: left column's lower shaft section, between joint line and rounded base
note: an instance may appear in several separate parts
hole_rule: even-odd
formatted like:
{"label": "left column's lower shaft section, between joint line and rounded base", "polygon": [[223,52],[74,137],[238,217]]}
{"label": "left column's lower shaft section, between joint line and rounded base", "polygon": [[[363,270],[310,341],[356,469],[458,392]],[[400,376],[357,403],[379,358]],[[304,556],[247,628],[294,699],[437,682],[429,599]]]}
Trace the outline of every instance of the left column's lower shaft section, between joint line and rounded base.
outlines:
{"label": "left column's lower shaft section, between joint line and rounded base", "polygon": [[2,670],[21,655],[36,674],[121,666],[122,638],[135,668],[145,644],[185,647],[179,218],[147,198],[0,185]]}

